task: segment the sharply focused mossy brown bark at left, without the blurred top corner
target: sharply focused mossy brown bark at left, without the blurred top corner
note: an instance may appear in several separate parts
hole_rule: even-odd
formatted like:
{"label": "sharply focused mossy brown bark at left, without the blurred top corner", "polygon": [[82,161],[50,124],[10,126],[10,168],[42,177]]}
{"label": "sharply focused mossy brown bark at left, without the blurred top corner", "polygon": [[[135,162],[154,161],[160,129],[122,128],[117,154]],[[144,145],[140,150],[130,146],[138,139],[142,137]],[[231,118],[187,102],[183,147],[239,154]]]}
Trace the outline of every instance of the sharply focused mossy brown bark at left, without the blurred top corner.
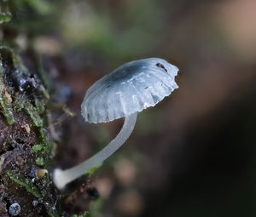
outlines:
{"label": "sharply focused mossy brown bark at left, without the blurred top corner", "polygon": [[19,216],[59,216],[49,177],[55,142],[47,126],[49,94],[18,54],[0,47],[0,216],[12,203]]}

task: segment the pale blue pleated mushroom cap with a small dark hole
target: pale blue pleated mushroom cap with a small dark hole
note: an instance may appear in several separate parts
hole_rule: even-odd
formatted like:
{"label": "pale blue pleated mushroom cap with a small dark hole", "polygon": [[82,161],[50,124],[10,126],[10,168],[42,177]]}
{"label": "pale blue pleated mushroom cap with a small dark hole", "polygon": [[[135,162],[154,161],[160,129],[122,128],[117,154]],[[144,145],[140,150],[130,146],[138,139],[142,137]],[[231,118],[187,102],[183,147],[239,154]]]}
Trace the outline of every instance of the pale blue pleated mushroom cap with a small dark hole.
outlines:
{"label": "pale blue pleated mushroom cap with a small dark hole", "polygon": [[155,106],[178,88],[177,71],[160,58],[125,63],[87,90],[82,116],[89,123],[105,123]]}

